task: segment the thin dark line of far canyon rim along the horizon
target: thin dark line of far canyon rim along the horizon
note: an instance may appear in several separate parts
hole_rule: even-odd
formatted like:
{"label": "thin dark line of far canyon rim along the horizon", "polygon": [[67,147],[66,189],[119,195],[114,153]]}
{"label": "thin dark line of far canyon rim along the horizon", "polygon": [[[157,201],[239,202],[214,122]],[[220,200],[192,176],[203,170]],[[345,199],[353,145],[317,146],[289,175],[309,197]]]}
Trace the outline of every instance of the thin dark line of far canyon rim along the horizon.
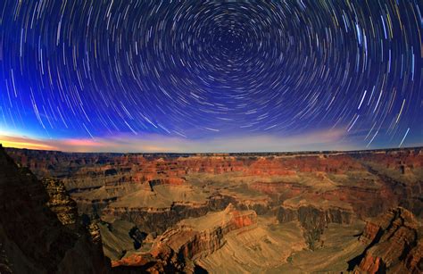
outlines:
{"label": "thin dark line of far canyon rim along the horizon", "polygon": [[176,152],[137,152],[137,153],[125,153],[125,152],[71,152],[62,150],[48,150],[48,149],[32,149],[32,148],[20,148],[12,146],[4,146],[0,143],[0,147],[16,149],[16,150],[30,150],[39,152],[56,152],[62,154],[336,154],[336,153],[358,153],[358,152],[377,152],[377,151],[400,151],[400,150],[415,150],[423,149],[423,145],[417,146],[404,146],[404,147],[386,147],[386,148],[374,148],[374,149],[355,149],[355,150],[298,150],[298,151],[274,151],[274,152],[187,152],[187,153],[176,153]]}

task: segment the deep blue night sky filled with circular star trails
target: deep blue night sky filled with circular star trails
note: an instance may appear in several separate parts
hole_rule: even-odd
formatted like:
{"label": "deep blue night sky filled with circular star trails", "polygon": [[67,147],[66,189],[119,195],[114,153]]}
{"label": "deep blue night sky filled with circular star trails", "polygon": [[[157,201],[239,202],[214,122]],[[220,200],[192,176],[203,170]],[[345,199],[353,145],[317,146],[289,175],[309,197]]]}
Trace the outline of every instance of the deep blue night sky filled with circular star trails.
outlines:
{"label": "deep blue night sky filled with circular star trails", "polygon": [[2,0],[0,142],[423,145],[423,2]]}

